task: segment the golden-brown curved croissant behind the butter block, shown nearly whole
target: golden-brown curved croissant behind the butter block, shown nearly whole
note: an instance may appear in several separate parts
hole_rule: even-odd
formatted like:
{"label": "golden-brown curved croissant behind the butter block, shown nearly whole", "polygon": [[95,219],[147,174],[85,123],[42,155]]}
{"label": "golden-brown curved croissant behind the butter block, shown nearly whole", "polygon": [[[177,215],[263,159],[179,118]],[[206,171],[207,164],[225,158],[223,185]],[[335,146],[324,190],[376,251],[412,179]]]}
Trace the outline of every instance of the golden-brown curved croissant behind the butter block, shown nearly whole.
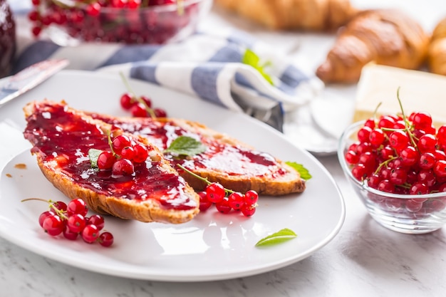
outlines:
{"label": "golden-brown curved croissant behind the butter block, shown nearly whole", "polygon": [[416,69],[426,58],[428,44],[429,35],[402,11],[362,11],[340,29],[316,75],[325,83],[356,83],[369,62]]}

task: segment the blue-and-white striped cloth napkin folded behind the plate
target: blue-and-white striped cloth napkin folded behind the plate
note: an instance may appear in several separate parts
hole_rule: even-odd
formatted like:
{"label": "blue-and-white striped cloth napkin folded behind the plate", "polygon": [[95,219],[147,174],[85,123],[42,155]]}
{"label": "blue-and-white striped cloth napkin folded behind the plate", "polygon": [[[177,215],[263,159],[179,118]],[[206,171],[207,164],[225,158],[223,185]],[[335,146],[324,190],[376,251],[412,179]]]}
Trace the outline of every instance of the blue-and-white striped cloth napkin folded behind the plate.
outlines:
{"label": "blue-and-white striped cloth napkin folded behind the plate", "polygon": [[[278,56],[265,43],[242,31],[199,32],[179,43],[125,45],[81,43],[58,46],[51,41],[19,45],[14,73],[51,58],[68,58],[68,68],[122,72],[245,112],[282,131],[284,112],[304,105],[323,89],[315,75],[307,75]],[[247,49],[268,62],[269,83],[254,67],[242,63]]]}

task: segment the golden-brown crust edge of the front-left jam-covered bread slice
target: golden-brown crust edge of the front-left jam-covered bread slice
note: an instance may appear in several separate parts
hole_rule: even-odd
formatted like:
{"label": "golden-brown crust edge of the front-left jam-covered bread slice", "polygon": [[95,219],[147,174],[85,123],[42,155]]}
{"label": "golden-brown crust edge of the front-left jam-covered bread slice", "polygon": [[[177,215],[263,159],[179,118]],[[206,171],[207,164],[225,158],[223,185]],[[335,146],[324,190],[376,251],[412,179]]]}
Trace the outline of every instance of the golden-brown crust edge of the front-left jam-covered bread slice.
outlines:
{"label": "golden-brown crust edge of the front-left jam-covered bread slice", "polygon": [[[44,101],[48,104],[48,101]],[[39,103],[28,103],[24,107],[24,113],[28,119],[34,113],[36,113],[36,106]],[[62,104],[65,103],[50,103],[50,104]],[[68,108],[71,113],[78,114],[82,120],[88,123],[93,123],[94,125],[100,126],[103,130],[110,130],[110,125],[104,123],[100,120],[93,120],[88,115],[84,115],[76,110]],[[146,140],[141,139],[143,143],[147,144]],[[30,140],[31,141],[31,140]],[[31,141],[31,143],[33,143]],[[33,143],[34,144],[34,143]],[[199,196],[195,193],[194,189],[190,187],[189,184],[185,184],[184,194],[191,200],[192,204],[196,207],[191,209],[167,209],[162,207],[156,199],[125,199],[114,196],[107,196],[95,192],[94,190],[82,187],[73,181],[73,178],[61,170],[56,161],[46,162],[45,154],[41,150],[32,150],[33,155],[37,157],[37,164],[41,171],[51,182],[54,187],[59,189],[63,194],[71,199],[81,198],[83,199],[88,207],[94,212],[100,214],[111,214],[115,217],[120,217],[122,219],[136,219],[141,222],[164,222],[172,224],[180,224],[190,221],[199,212]],[[160,167],[162,172],[169,174],[176,174],[177,172],[169,165],[167,160],[162,158],[162,153],[159,152],[156,147],[153,147],[152,152],[150,152],[150,157],[156,161],[160,161]],[[182,179],[182,177],[178,177]]]}

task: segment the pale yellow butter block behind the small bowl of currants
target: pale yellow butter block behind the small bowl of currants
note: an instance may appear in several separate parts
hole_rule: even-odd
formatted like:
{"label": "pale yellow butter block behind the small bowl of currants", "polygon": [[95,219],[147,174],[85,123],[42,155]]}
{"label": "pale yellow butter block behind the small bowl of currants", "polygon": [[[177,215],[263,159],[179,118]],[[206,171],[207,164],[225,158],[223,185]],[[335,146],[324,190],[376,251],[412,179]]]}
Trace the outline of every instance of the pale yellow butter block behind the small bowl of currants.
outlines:
{"label": "pale yellow butter block behind the small bowl of currants", "polygon": [[400,113],[397,92],[405,115],[430,113],[436,127],[446,123],[446,76],[390,66],[368,64],[356,90],[353,122],[377,115]]}

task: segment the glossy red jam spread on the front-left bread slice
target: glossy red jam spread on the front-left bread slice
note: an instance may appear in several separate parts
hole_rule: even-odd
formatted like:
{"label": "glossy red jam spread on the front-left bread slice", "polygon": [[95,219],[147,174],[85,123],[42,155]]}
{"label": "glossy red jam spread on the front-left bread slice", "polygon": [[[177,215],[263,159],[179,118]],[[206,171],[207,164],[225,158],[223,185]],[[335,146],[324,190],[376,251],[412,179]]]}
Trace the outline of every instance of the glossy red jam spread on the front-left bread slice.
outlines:
{"label": "glossy red jam spread on the front-left bread slice", "polygon": [[157,199],[166,209],[196,207],[184,193],[185,180],[162,171],[159,162],[150,158],[135,163],[135,173],[127,176],[93,169],[88,150],[110,150],[107,134],[66,106],[36,103],[36,111],[26,120],[24,136],[33,143],[32,152],[41,155],[46,164],[57,162],[61,173],[81,187],[123,199]]}

